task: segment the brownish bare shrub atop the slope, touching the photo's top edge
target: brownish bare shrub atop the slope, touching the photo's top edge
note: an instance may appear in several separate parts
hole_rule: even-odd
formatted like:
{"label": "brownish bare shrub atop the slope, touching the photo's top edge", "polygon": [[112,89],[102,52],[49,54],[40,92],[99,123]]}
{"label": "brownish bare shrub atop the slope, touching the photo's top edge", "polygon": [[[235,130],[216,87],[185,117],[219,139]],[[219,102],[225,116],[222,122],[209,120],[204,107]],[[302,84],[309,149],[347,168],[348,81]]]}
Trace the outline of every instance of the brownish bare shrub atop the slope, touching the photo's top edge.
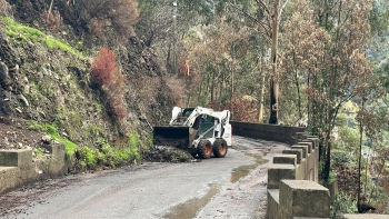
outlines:
{"label": "brownish bare shrub atop the slope, touching the photo's top edge", "polygon": [[[79,36],[97,40],[118,39],[126,41],[132,33],[132,26],[138,22],[138,3],[134,0],[77,0],[62,4],[61,16],[72,26]],[[92,42],[90,40],[89,42]],[[109,43],[109,42],[108,42]]]}

